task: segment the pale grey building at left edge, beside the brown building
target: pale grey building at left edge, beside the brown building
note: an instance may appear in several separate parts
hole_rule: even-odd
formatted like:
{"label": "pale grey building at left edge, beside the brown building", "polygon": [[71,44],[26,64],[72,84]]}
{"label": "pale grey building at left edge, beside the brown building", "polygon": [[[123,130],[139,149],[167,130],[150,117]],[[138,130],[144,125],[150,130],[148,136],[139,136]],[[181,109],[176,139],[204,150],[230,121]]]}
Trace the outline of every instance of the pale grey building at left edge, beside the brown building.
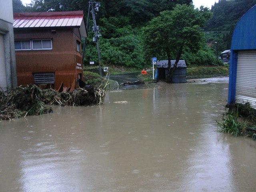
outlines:
{"label": "pale grey building at left edge, beside the brown building", "polygon": [[0,89],[17,86],[12,1],[0,3]]}

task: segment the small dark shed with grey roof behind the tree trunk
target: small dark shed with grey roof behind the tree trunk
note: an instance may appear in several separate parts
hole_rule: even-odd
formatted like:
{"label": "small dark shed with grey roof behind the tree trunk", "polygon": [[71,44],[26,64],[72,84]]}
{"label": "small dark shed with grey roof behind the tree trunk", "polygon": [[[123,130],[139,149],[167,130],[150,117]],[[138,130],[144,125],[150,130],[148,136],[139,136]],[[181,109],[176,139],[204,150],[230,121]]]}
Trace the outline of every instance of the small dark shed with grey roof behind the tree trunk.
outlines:
{"label": "small dark shed with grey roof behind the tree trunk", "polygon": [[[176,60],[171,60],[171,67],[173,68]],[[187,66],[184,60],[178,62],[177,68],[172,76],[173,83],[186,83]],[[157,62],[157,80],[168,80],[168,60]]]}

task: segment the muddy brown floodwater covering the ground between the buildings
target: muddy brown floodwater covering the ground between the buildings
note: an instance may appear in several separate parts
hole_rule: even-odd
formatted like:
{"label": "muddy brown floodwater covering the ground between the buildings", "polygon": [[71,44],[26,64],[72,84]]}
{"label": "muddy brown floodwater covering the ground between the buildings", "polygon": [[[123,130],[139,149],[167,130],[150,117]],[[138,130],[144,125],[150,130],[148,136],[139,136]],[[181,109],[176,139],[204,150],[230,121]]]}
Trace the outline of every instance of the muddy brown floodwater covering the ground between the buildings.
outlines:
{"label": "muddy brown floodwater covering the ground between the buildings", "polygon": [[256,191],[256,142],[216,131],[227,92],[160,83],[2,121],[0,192]]}

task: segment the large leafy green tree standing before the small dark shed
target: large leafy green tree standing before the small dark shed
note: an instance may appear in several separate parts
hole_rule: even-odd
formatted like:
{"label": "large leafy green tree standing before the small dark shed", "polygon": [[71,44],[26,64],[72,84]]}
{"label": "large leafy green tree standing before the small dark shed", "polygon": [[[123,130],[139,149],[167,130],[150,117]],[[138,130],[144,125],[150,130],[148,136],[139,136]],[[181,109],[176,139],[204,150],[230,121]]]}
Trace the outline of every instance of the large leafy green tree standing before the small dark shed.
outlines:
{"label": "large leafy green tree standing before the small dark shed", "polygon": [[[193,6],[177,5],[172,11],[161,12],[143,28],[146,52],[151,56],[167,56],[170,81],[184,51],[197,52],[202,45],[201,27],[205,21],[202,12]],[[173,68],[172,57],[176,59]]]}

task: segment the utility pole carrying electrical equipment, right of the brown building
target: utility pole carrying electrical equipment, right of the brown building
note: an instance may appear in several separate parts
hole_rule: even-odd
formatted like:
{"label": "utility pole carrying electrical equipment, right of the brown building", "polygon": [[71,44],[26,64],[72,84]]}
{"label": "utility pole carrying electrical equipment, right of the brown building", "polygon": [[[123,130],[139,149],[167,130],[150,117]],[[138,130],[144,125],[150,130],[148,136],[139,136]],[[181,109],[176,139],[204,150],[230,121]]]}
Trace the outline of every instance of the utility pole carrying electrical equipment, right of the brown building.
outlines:
{"label": "utility pole carrying electrical equipment, right of the brown building", "polygon": [[99,2],[94,2],[93,0],[90,0],[90,6],[92,8],[92,20],[93,20],[93,27],[92,31],[94,32],[94,38],[93,42],[96,42],[97,46],[97,52],[98,52],[98,62],[99,62],[99,74],[102,76],[102,69],[101,69],[101,58],[100,58],[100,46],[99,46],[99,38],[100,38],[100,30],[99,26],[96,24],[96,18],[95,18],[95,11],[99,11],[100,3]]}

